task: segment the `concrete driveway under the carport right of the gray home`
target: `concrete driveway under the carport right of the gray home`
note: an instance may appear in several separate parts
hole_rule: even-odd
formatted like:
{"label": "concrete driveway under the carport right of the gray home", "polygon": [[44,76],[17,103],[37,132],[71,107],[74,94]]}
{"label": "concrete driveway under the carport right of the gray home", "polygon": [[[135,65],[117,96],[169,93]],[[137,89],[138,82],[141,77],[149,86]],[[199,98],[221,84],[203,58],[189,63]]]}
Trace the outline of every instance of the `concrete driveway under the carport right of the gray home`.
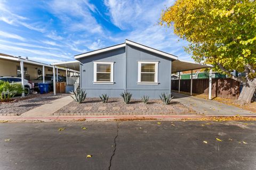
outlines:
{"label": "concrete driveway under the carport right of the gray home", "polygon": [[206,100],[194,96],[188,96],[184,94],[179,94],[177,92],[172,92],[175,101],[194,109],[196,112],[205,115],[256,115],[253,112],[246,111],[242,108],[235,106],[230,106],[226,104],[219,103],[218,101]]}

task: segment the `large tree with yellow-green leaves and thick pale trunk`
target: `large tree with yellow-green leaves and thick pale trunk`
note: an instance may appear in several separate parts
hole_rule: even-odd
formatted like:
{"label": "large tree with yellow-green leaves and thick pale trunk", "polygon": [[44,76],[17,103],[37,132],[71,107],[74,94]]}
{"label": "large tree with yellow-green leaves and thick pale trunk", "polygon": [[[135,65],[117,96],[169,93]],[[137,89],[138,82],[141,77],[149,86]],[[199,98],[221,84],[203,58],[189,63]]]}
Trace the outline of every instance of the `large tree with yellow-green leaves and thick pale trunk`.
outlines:
{"label": "large tree with yellow-green leaves and thick pale trunk", "polygon": [[[177,0],[163,10],[160,25],[189,42],[186,50],[196,62],[243,83],[237,102],[249,104],[256,89],[256,1]],[[230,71],[245,73],[236,77]]]}

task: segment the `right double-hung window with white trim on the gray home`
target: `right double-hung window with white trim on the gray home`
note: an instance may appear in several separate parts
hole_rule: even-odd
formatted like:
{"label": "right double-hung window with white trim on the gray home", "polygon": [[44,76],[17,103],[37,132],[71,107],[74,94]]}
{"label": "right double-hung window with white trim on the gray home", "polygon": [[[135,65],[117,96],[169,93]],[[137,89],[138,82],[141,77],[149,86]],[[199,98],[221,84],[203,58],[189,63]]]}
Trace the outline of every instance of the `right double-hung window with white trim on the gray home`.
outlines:
{"label": "right double-hung window with white trim on the gray home", "polygon": [[138,62],[138,84],[158,84],[158,62]]}

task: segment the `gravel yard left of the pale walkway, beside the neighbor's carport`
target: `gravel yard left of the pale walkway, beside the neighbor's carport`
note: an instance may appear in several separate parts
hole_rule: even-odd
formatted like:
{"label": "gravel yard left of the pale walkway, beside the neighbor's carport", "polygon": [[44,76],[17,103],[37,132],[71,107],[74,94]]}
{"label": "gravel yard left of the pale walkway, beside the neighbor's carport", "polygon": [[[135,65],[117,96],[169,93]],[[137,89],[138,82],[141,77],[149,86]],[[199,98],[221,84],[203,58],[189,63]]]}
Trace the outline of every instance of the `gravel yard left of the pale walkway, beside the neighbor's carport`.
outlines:
{"label": "gravel yard left of the pale walkway, beside the neighbor's carport", "polygon": [[20,115],[33,109],[35,107],[41,106],[43,104],[50,103],[52,100],[65,97],[70,94],[57,94],[53,96],[53,93],[49,94],[37,94],[31,95],[27,99],[20,99],[18,101],[10,102],[10,103],[0,103],[0,115],[1,114],[17,114]]}

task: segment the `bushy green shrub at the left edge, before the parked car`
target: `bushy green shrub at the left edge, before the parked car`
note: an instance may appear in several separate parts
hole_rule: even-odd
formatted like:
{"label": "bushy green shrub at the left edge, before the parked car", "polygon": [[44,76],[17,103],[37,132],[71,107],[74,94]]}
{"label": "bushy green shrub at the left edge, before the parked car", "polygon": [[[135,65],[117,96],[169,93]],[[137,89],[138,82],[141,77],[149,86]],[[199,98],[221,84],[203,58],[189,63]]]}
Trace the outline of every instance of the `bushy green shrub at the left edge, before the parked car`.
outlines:
{"label": "bushy green shrub at the left edge, before the parked car", "polygon": [[17,94],[22,94],[24,88],[20,83],[9,83],[0,80],[0,100],[9,101],[12,97]]}

